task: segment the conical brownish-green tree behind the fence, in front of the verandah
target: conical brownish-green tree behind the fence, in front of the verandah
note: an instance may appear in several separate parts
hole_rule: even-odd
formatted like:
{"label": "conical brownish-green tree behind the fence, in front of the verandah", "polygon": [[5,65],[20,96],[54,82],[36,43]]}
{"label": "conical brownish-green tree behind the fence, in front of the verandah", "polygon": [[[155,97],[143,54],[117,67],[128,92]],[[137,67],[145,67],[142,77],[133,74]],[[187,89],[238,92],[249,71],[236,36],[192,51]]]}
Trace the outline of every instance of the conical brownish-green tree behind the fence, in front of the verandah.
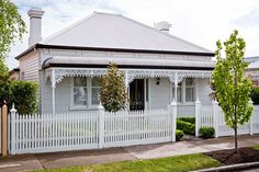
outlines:
{"label": "conical brownish-green tree behind the fence, in front of the verandah", "polygon": [[119,71],[116,64],[110,64],[108,74],[101,78],[101,102],[105,111],[117,112],[126,107],[124,73]]}

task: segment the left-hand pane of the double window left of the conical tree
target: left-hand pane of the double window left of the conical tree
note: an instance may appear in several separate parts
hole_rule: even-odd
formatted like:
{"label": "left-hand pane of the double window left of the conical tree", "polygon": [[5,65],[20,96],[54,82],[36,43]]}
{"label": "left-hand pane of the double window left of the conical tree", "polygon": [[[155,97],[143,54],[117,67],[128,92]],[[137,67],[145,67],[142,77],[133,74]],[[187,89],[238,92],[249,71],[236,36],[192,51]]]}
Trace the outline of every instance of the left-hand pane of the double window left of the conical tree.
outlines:
{"label": "left-hand pane of the double window left of the conical tree", "polygon": [[87,106],[87,78],[74,78],[74,106]]}

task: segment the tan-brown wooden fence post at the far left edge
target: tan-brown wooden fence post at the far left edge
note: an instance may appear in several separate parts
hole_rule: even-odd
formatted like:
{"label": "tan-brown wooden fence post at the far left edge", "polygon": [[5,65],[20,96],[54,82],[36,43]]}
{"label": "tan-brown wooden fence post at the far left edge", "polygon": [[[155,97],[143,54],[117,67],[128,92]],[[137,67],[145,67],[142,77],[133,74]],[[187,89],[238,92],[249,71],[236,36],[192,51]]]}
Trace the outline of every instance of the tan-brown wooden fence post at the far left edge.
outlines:
{"label": "tan-brown wooden fence post at the far left edge", "polygon": [[8,156],[8,106],[7,106],[7,102],[3,101],[3,106],[2,106],[2,113],[1,113],[1,146],[2,146],[2,157]]}

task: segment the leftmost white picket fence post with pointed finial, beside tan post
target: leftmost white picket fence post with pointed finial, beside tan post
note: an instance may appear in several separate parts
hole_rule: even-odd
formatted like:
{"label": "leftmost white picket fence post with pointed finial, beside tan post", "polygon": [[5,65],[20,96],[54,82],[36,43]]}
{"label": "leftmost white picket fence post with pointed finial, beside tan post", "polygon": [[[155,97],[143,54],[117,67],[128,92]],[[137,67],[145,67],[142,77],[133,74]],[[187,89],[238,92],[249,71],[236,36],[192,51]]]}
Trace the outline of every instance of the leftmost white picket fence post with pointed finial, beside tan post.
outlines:
{"label": "leftmost white picket fence post with pointed finial, beside tan post", "polygon": [[15,144],[16,144],[16,140],[15,140],[15,138],[16,138],[16,136],[15,136],[15,125],[16,125],[16,123],[15,123],[15,115],[16,115],[16,110],[14,108],[14,103],[12,104],[12,108],[10,110],[10,112],[11,112],[11,154],[13,154],[14,153],[14,151],[15,151]]}

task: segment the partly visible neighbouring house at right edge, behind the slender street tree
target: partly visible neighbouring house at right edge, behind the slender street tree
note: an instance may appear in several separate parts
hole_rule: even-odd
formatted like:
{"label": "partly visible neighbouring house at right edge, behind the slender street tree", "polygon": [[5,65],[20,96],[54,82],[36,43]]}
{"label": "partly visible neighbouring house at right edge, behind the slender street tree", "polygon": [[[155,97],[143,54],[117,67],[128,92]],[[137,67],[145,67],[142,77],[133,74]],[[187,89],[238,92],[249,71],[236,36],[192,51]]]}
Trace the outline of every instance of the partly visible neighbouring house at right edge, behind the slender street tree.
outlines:
{"label": "partly visible neighbouring house at right edge, behind the slender street tree", "polygon": [[249,62],[246,73],[250,77],[254,87],[259,87],[259,56],[246,57],[245,60]]}

